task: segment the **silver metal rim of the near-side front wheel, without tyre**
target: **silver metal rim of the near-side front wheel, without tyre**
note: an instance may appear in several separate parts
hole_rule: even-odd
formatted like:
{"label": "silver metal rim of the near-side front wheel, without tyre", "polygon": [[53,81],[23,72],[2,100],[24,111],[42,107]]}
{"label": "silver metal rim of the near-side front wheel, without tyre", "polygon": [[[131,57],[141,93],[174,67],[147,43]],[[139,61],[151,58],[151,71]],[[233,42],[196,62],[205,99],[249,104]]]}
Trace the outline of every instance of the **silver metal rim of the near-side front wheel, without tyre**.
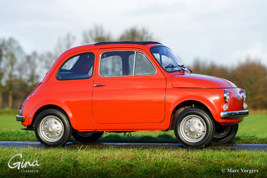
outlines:
{"label": "silver metal rim of the near-side front wheel, without tyre", "polygon": [[203,118],[197,115],[189,115],[181,121],[180,133],[186,141],[198,142],[205,136],[206,128]]}

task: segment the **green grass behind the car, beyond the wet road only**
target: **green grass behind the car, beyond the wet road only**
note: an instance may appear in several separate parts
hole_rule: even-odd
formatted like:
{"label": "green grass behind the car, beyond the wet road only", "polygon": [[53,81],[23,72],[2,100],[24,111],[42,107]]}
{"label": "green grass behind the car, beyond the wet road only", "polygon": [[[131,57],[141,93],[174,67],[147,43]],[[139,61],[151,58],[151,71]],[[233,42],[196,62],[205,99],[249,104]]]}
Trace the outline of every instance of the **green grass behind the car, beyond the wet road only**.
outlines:
{"label": "green grass behind the car, beyond the wet road only", "polygon": [[[33,131],[22,131],[25,128],[16,121],[17,110],[0,110],[0,140],[37,141]],[[233,143],[266,143],[267,114],[250,114],[239,124],[238,133]],[[71,141],[75,139],[71,138]],[[106,133],[99,142],[177,142],[173,131],[137,131],[126,135]]]}

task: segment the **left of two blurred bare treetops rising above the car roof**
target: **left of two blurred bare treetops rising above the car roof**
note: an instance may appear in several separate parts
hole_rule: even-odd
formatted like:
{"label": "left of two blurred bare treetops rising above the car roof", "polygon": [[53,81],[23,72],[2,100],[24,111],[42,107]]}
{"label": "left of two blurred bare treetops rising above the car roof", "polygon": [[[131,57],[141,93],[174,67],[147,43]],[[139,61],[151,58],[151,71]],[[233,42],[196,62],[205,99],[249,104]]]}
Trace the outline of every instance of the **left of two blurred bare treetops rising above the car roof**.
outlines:
{"label": "left of two blurred bare treetops rising above the car roof", "polygon": [[92,29],[84,31],[82,34],[83,43],[93,43],[101,41],[111,41],[109,33],[105,33],[102,26],[95,25]]}

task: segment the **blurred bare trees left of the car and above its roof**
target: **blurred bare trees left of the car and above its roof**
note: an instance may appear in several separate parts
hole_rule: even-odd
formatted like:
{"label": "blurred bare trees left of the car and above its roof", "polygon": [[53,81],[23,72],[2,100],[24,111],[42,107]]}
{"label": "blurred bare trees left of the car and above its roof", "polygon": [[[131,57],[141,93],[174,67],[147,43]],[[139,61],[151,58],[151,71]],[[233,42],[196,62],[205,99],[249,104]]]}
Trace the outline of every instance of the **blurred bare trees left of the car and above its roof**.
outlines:
{"label": "blurred bare trees left of the car and above its roof", "polygon": [[[101,41],[150,41],[153,35],[145,28],[131,27],[112,38],[103,27],[95,25],[83,31],[80,44]],[[14,38],[0,37],[0,109],[18,108],[55,62],[67,49],[74,47],[76,37],[71,33],[58,39],[52,51],[26,54]]]}

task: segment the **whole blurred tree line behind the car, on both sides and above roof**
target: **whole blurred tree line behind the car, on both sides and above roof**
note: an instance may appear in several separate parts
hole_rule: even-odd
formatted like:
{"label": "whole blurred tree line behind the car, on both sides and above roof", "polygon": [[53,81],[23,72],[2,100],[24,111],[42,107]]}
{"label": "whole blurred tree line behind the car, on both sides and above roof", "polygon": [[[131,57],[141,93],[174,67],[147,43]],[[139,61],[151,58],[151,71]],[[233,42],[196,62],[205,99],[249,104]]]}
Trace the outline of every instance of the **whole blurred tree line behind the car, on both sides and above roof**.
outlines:
{"label": "whole blurred tree line behind the car, on both sides and above roof", "polygon": [[[81,44],[101,41],[157,41],[147,29],[131,27],[112,38],[102,26],[83,31]],[[14,38],[0,38],[0,109],[18,108],[35,86],[42,81],[55,60],[73,47],[76,37],[71,33],[59,38],[53,51],[26,54]],[[188,65],[190,66],[190,65]],[[247,92],[249,109],[267,109],[267,68],[259,61],[247,58],[236,66],[218,66],[195,60],[193,73],[211,75],[232,81]]]}

